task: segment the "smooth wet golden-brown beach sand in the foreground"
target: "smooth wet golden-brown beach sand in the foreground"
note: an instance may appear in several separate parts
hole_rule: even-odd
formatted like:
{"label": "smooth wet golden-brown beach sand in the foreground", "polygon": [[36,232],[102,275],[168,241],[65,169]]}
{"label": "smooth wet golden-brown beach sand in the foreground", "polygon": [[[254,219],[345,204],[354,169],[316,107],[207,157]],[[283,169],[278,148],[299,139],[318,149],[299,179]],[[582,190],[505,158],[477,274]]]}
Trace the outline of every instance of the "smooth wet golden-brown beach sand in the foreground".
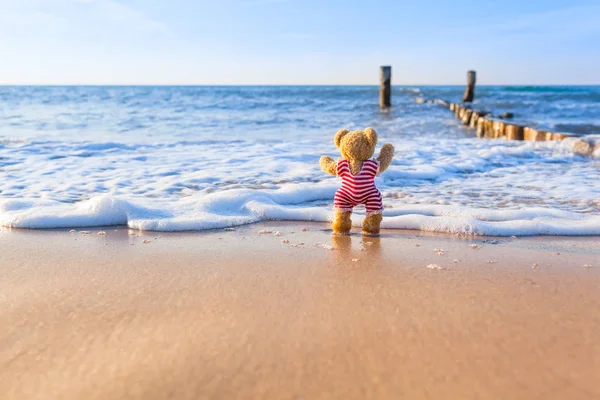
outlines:
{"label": "smooth wet golden-brown beach sand in the foreground", "polygon": [[3,400],[600,398],[598,238],[89,231],[0,232]]}

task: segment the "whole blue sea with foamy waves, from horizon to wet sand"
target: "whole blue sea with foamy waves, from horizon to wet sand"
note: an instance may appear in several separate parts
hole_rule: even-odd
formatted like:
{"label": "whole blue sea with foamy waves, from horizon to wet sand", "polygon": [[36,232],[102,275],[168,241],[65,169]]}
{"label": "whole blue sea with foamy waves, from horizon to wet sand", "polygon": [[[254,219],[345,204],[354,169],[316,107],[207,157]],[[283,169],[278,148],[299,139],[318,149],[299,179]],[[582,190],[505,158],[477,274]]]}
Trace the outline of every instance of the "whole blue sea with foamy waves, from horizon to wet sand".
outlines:
{"label": "whole blue sea with foamy waves, from horizon to wet sand", "polygon": [[[600,149],[479,139],[461,86],[0,87],[0,225],[187,231],[331,219],[340,128],[396,148],[376,183],[383,227],[600,235]],[[474,108],[600,139],[600,86],[478,86]],[[358,226],[364,209],[353,221]]]}

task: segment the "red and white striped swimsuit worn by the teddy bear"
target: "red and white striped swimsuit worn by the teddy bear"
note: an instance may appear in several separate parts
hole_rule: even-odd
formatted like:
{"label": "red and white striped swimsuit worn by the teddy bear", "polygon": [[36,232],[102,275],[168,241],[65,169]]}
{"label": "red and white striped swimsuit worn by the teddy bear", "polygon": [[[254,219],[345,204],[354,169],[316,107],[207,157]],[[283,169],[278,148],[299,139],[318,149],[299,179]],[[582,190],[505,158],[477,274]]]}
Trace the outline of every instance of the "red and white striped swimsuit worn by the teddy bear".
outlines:
{"label": "red and white striped swimsuit worn by the teddy bear", "polygon": [[379,171],[379,162],[367,160],[363,163],[358,175],[352,175],[348,160],[337,163],[337,176],[342,178],[342,187],[335,193],[334,208],[338,211],[352,211],[359,204],[364,204],[367,216],[380,214],[383,211],[381,193],[375,186],[375,176]]}

